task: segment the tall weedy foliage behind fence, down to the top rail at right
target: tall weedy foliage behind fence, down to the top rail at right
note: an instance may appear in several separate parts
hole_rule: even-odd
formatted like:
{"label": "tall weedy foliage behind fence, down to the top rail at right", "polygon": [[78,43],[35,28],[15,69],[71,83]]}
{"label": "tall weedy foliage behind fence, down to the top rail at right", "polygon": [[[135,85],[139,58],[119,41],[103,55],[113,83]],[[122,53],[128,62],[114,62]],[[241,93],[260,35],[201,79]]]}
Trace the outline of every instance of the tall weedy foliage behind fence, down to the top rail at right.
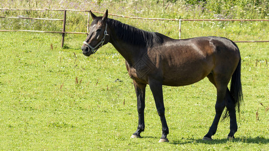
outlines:
{"label": "tall weedy foliage behind fence, down to the top rail at right", "polygon": [[[268,19],[267,0],[202,0],[202,1],[40,1],[3,0],[1,8],[16,9],[75,9],[92,10],[125,16],[176,19]],[[55,11],[1,11],[1,16],[63,18],[63,12]],[[86,32],[87,13],[68,12],[67,30]],[[124,20],[124,19],[123,19]],[[62,22],[41,20],[2,19],[0,29],[31,29],[61,31]]]}

